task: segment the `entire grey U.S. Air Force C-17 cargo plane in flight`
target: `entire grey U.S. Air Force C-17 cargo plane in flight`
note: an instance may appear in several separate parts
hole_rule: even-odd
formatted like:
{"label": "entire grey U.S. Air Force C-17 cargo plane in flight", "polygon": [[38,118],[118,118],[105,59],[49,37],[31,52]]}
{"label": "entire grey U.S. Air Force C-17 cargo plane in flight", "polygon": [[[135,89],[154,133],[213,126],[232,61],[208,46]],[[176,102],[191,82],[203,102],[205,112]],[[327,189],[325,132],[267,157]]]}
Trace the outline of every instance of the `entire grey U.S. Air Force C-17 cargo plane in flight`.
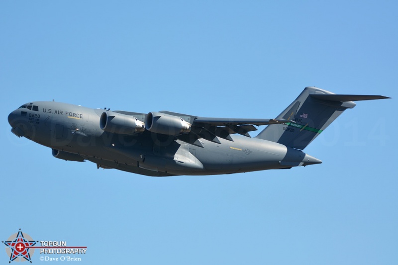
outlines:
{"label": "entire grey U.S. Air Force C-17 cargo plane in flight", "polygon": [[[322,161],[302,150],[352,101],[389,98],[307,87],[275,119],[148,114],[54,102],[23,104],[8,115],[11,132],[52,148],[54,157],[141,175],[232,174],[291,169]],[[254,127],[268,125],[256,137]]]}

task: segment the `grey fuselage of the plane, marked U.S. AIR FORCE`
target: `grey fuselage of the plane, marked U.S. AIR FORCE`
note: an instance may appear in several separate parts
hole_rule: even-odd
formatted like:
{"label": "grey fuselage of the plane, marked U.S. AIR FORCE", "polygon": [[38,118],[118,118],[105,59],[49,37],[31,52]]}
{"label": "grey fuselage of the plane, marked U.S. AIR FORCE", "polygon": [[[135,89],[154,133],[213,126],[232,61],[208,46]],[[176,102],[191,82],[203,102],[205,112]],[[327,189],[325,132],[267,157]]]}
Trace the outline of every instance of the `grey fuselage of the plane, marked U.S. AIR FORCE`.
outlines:
{"label": "grey fuselage of the plane, marked U.S. AIR FORCE", "polygon": [[242,135],[210,141],[146,130],[112,133],[100,127],[104,111],[36,101],[12,111],[8,121],[14,134],[52,148],[57,158],[148,176],[231,174],[321,163],[300,150]]}

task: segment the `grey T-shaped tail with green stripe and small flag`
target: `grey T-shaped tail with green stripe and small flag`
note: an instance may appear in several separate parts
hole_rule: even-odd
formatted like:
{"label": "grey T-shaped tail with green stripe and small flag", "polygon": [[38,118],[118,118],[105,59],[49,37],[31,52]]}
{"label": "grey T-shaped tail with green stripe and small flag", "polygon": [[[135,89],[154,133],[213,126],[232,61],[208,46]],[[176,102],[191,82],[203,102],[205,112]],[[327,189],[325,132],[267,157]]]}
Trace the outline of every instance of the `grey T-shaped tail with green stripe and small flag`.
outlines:
{"label": "grey T-shaped tail with green stripe and small flag", "polygon": [[389,98],[381,95],[342,95],[307,87],[277,119],[292,122],[268,125],[256,138],[303,150],[344,110],[355,107],[352,101]]}

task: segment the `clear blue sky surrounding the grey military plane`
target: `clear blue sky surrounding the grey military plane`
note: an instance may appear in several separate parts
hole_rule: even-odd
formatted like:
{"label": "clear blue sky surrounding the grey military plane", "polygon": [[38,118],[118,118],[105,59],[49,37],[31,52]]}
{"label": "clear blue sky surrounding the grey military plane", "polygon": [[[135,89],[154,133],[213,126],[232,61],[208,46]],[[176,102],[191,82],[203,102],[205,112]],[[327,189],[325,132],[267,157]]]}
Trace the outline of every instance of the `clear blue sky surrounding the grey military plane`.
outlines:
{"label": "clear blue sky surrounding the grey military plane", "polygon": [[[0,241],[84,245],[80,264],[396,264],[395,1],[0,2]],[[323,164],[145,177],[18,139],[34,100],[274,118],[306,86],[382,94],[305,151]],[[35,253],[33,264],[41,264]],[[0,251],[0,264],[7,264]]]}

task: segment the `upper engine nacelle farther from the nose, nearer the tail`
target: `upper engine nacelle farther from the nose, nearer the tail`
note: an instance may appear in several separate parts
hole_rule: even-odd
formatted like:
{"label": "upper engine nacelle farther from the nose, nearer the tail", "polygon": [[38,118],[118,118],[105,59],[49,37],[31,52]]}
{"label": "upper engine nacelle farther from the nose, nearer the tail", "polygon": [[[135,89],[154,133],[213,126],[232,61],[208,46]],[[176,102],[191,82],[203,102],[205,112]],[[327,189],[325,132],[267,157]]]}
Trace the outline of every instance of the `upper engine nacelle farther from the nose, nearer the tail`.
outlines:
{"label": "upper engine nacelle farther from the nose, nearer the tail", "polygon": [[180,135],[191,131],[191,124],[180,117],[149,112],[145,119],[145,128],[154,133],[166,135]]}

